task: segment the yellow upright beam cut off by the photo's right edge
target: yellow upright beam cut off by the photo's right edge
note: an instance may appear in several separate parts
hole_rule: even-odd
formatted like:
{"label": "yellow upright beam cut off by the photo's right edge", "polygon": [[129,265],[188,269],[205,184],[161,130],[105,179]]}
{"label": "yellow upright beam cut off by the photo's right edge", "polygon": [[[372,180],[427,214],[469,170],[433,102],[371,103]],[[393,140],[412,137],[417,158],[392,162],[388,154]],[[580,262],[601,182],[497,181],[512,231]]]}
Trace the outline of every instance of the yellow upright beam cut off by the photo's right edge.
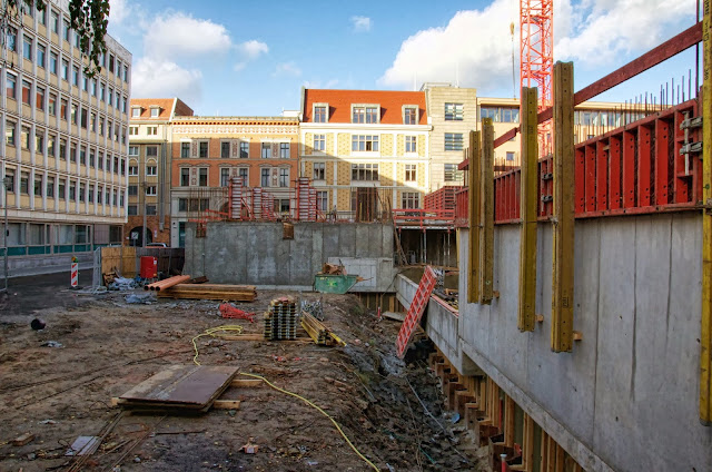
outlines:
{"label": "yellow upright beam cut off by the photo's right edge", "polygon": [[712,424],[712,12],[704,0],[702,37],[702,333],[700,336],[700,420]]}

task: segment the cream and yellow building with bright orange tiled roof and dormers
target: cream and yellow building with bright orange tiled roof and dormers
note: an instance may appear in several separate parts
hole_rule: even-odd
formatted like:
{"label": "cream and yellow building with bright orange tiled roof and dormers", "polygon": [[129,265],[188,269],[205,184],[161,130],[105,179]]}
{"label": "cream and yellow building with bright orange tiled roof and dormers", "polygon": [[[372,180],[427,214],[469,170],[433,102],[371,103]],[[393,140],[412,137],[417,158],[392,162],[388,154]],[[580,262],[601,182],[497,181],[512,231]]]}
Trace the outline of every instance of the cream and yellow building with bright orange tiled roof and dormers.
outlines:
{"label": "cream and yellow building with bright orange tiled roof and dormers", "polygon": [[300,175],[322,212],[373,220],[421,208],[431,126],[423,91],[303,89]]}

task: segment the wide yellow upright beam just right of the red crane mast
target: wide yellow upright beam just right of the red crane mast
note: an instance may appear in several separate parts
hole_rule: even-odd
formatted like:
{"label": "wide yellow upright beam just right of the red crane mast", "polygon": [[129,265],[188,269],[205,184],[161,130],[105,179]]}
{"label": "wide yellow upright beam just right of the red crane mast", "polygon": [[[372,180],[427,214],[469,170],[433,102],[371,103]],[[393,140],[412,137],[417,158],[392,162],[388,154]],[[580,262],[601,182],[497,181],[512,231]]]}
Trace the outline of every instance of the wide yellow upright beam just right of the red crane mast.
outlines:
{"label": "wide yellow upright beam just right of the red crane mast", "polygon": [[554,352],[571,352],[574,324],[574,66],[554,65],[554,250],[552,336]]}

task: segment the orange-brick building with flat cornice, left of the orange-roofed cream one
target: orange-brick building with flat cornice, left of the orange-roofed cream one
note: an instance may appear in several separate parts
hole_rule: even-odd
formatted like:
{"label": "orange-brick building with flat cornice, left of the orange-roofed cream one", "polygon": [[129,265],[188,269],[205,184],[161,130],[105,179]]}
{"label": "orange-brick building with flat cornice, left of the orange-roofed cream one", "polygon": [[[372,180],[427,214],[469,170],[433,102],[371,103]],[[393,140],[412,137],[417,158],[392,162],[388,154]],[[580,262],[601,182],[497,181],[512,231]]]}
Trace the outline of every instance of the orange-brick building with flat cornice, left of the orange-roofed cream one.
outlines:
{"label": "orange-brick building with flat cornice, left of the orange-roofed cream one", "polygon": [[[245,210],[254,195],[289,214],[298,177],[296,117],[175,117],[171,120],[171,246],[182,246],[186,223],[229,217],[234,177]],[[239,215],[233,215],[239,217]]]}

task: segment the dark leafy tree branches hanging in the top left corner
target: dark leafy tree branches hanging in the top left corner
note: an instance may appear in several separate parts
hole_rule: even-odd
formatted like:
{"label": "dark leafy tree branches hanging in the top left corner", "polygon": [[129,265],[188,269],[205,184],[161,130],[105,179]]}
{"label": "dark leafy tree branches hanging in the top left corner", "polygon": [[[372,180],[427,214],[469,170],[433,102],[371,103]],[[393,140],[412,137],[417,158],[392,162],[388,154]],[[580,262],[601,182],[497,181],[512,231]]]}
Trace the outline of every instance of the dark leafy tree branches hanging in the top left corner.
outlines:
{"label": "dark leafy tree branches hanging in the top left corner", "polygon": [[[37,8],[40,11],[47,9],[48,0],[0,0],[2,11],[3,38],[7,33],[9,20],[14,18],[22,24],[22,11],[18,8],[21,3],[26,8]],[[71,28],[79,35],[79,47],[89,58],[89,65],[85,66],[85,73],[93,77],[101,71],[101,56],[107,51],[105,36],[109,24],[109,0],[69,0],[69,18]]]}

